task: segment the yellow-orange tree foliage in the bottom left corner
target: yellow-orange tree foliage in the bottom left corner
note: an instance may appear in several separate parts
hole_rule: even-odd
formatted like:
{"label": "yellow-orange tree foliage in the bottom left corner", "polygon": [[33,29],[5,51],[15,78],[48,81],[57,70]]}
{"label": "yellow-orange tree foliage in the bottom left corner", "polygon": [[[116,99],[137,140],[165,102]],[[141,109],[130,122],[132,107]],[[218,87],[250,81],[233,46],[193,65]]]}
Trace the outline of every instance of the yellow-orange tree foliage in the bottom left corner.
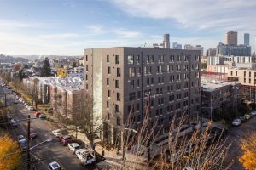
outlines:
{"label": "yellow-orange tree foliage in the bottom left corner", "polygon": [[0,169],[12,170],[20,166],[19,144],[8,135],[0,136]]}

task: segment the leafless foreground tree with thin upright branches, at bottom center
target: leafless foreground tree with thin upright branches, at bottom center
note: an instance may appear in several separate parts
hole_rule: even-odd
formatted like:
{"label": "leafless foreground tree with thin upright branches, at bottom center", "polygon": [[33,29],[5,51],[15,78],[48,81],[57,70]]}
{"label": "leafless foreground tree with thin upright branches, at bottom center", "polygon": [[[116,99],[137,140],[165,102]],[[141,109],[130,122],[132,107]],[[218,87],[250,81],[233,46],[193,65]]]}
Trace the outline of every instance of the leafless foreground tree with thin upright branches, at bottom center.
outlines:
{"label": "leafless foreground tree with thin upright branches, at bottom center", "polygon": [[[195,127],[192,133],[185,135],[182,132],[185,120],[186,116],[179,119],[174,116],[170,131],[165,137],[154,133],[157,131],[157,121],[153,123],[153,127],[150,126],[146,113],[142,125],[137,130],[124,133],[123,150],[125,150],[126,159],[118,165],[113,165],[112,168],[159,170],[229,168],[231,163],[224,165],[224,158],[230,144],[222,138],[223,132],[218,135],[210,133],[212,122],[208,122],[202,133],[200,127]],[[133,128],[131,118],[125,128]],[[148,150],[151,153],[150,160],[148,160]]]}

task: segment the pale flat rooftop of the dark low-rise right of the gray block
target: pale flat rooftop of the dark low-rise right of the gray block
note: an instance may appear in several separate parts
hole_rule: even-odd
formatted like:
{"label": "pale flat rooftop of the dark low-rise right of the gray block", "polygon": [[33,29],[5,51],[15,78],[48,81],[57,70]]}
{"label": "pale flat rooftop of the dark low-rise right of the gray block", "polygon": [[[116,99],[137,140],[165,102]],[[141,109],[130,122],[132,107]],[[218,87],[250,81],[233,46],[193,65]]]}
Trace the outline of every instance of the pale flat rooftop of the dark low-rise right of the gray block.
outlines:
{"label": "pale flat rooftop of the dark low-rise right of the gray block", "polygon": [[235,82],[223,82],[223,81],[215,81],[215,80],[208,80],[208,79],[201,79],[201,87],[203,91],[212,92],[217,90],[218,88],[222,88],[224,86],[234,86]]}

